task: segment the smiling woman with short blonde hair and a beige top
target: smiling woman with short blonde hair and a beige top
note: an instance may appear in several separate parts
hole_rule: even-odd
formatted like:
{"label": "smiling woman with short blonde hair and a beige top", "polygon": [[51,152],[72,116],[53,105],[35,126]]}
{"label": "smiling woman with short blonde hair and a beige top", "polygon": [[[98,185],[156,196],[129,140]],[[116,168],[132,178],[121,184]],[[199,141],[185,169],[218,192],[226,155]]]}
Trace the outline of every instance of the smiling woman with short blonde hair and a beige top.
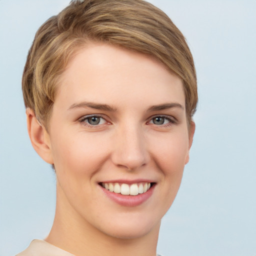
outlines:
{"label": "smiling woman with short blonde hair and a beige top", "polygon": [[181,32],[142,0],[71,1],[38,29],[22,90],[57,198],[49,235],[18,255],[155,255],[195,127]]}

